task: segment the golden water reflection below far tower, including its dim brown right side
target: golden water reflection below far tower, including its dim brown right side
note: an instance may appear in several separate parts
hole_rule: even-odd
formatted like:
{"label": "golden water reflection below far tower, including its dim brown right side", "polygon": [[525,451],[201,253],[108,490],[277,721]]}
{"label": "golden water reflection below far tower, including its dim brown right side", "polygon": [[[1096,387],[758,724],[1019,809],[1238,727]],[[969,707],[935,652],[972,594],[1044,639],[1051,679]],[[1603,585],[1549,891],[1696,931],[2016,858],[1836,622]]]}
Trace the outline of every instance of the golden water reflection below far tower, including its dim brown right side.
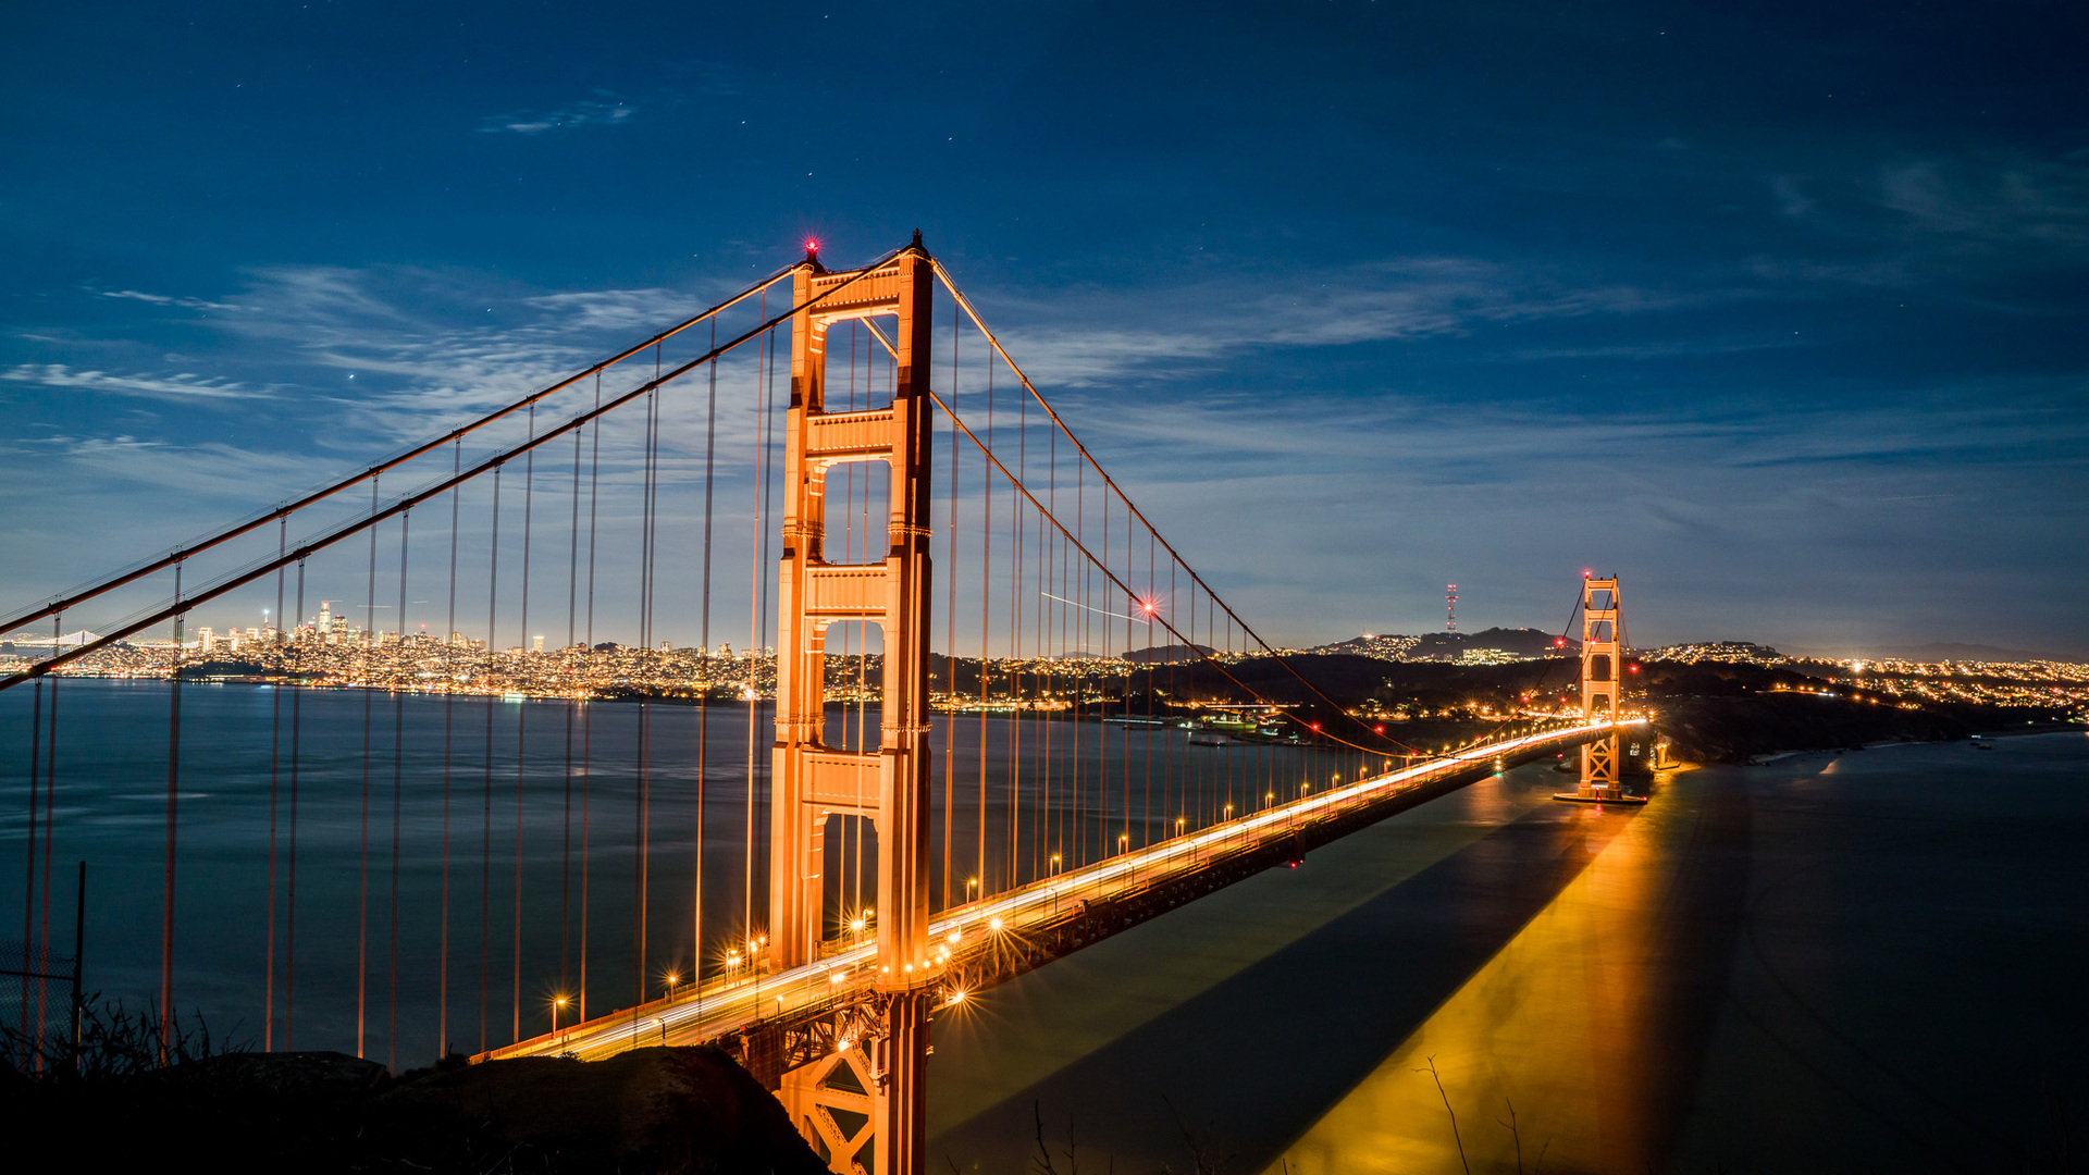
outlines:
{"label": "golden water reflection below far tower, including its dim brown right side", "polygon": [[[1744,838],[1746,801],[1661,790],[1663,803],[1638,813],[1575,809],[1623,828],[1268,1171],[1665,1165],[1677,1087],[1703,1045],[1692,1022],[1713,997],[1744,886],[1744,863],[1736,874],[1719,843]],[[1707,855],[1677,870],[1692,840]]]}

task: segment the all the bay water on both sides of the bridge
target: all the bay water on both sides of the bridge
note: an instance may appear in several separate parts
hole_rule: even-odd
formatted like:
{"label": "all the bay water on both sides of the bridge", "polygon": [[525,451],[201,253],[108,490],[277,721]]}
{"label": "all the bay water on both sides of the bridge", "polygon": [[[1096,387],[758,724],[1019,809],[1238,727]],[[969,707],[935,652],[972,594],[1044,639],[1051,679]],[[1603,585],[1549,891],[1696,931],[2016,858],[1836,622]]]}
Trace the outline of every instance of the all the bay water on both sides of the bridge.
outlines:
{"label": "all the bay water on both sides of the bridge", "polygon": [[[25,863],[23,694],[0,698],[8,918],[19,918]],[[299,970],[292,1004],[280,853],[278,1047],[353,1050],[359,945],[368,1052],[395,1050],[401,1064],[426,1062],[443,1033],[476,1047],[541,1031],[549,995],[579,989],[583,943],[589,1010],[629,1004],[637,707],[579,715],[581,788],[566,769],[564,705],[409,698],[395,709],[376,696],[363,909],[363,694],[192,686],[178,1006],[205,1010],[221,1037],[261,1037],[269,751],[282,705],[282,851],[292,698]],[[69,870],[90,859],[90,987],[134,1001],[157,989],[165,702],[163,684],[125,682],[67,682],[61,702],[52,939],[71,945]],[[704,939],[746,924],[748,713],[714,709],[702,732],[683,707],[656,707],[652,721],[646,926],[648,966],[664,970],[685,966],[698,932],[700,734]],[[393,723],[405,746],[397,993]],[[445,730],[447,976],[437,897]],[[1126,734],[1109,738],[1116,757]],[[978,763],[982,744],[988,776],[1003,776],[1007,723],[965,719],[957,761]],[[1067,742],[1053,755],[1074,759]],[[1093,734],[1080,757],[1093,784]],[[1153,761],[1155,778],[1203,771],[1243,797],[1268,771],[1331,769],[1297,751],[1212,755],[1166,740]],[[1682,771],[1638,813],[1552,803],[1560,782],[1542,765],[1496,776],[940,1014],[938,1165],[1028,1171],[1038,1114],[1061,1171],[1070,1139],[1082,1169],[1184,1171],[1184,1135],[1224,1171],[1301,1175],[1519,1171],[1519,1146],[1523,1171],[1556,1173],[2043,1171],[2062,1169],[2070,1131],[2079,1162],[2089,1137],[2089,738]],[[978,820],[978,794],[965,790],[959,828]],[[986,792],[996,843],[1005,794]],[[1095,822],[1097,801],[1088,786],[1090,815],[1065,820],[1067,836],[1116,834]],[[756,878],[765,868],[752,861]],[[0,926],[0,939],[17,935]]]}

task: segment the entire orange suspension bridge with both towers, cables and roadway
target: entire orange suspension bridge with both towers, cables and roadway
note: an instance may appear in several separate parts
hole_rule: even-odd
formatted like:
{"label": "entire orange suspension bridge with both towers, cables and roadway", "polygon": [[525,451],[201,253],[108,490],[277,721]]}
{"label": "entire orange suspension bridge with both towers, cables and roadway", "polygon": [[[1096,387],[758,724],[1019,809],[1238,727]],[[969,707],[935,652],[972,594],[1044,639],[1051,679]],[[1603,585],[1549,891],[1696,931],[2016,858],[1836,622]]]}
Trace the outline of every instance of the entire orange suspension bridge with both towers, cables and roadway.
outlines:
{"label": "entire orange suspension bridge with both towers, cables and roadway", "polygon": [[[320,588],[305,623],[311,588],[357,573],[359,604],[330,613]],[[249,976],[265,1050],[295,1047],[315,999],[343,1037],[353,1004],[353,1052],[393,1068],[474,1035],[476,1060],[725,1043],[836,1171],[917,1173],[930,1024],[976,991],[1506,763],[1581,744],[1560,799],[1632,801],[1617,581],[1586,577],[1577,602],[1579,713],[1408,746],[1212,590],[919,232],[846,272],[808,247],[549,387],[0,621],[50,631],[0,677],[29,732],[0,763],[27,794],[23,958],[54,958],[54,828],[81,820],[81,744],[111,736],[61,721],[61,679],[167,631],[146,669],[169,677],[159,893],[117,899],[157,901],[157,1008],[184,997],[184,932],[226,918],[230,884],[255,924],[209,962]],[[244,652],[190,644],[205,606],[276,623]],[[696,648],[662,642],[662,617]],[[545,650],[533,625],[560,619]],[[209,849],[211,880],[184,889],[184,786],[230,771],[196,742],[217,730],[184,723],[184,679],[219,663],[301,688],[247,719],[267,732],[247,866]],[[309,686],[361,705],[322,725]],[[1216,734],[1187,751],[1197,725]],[[353,853],[313,859],[320,811]],[[343,901],[313,914],[320,891]],[[320,958],[345,966],[315,976]],[[0,1016],[44,1033],[65,995],[19,993]],[[414,1008],[401,1024],[416,1001],[432,1031]]]}

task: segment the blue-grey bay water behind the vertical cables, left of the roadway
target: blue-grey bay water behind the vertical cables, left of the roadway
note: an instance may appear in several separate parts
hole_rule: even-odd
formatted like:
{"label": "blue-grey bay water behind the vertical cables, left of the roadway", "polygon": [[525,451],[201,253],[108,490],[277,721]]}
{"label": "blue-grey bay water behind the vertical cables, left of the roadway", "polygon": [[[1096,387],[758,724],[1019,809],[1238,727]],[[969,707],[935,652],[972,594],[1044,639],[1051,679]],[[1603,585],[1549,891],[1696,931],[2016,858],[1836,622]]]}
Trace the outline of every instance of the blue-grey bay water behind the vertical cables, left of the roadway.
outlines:
{"label": "blue-grey bay water behind the vertical cables, left of the roadway", "polygon": [[[0,694],[0,939],[21,937],[36,705],[29,688]],[[44,705],[48,719],[48,688]],[[769,711],[656,705],[646,713],[641,824],[637,705],[184,686],[175,1006],[201,1012],[219,1037],[355,1052],[361,999],[363,1052],[426,1064],[439,1041],[470,1052],[545,1031],[562,991],[572,995],[564,1022],[583,1006],[589,1014],[631,1006],[639,926],[650,995],[668,972],[687,978],[698,939],[721,970],[725,945],[767,920]],[[73,861],[86,859],[88,987],[134,1008],[159,993],[167,715],[165,682],[58,686],[50,939],[71,951]],[[875,707],[836,705],[827,740],[856,746],[869,730],[875,748],[877,717]],[[1308,748],[1193,748],[1178,730],[994,715],[963,715],[946,757],[946,730],[938,715],[930,889],[940,899],[948,782],[959,901],[965,878],[982,872],[982,836],[994,891],[1009,882],[1007,859],[1019,874],[1047,872],[1053,853],[1074,866],[1116,849],[1120,836],[1139,847],[1170,834],[1172,815],[1195,826],[1228,801],[1245,811],[1255,792],[1352,769]],[[1015,761],[1026,784],[1011,811]],[[1044,765],[1049,792],[1030,786]],[[1126,820],[1126,805],[1147,820]],[[829,826],[829,914],[875,901],[877,853],[865,826],[840,817]],[[641,830],[643,918],[633,849]],[[274,1033],[263,1037],[269,1006]]]}

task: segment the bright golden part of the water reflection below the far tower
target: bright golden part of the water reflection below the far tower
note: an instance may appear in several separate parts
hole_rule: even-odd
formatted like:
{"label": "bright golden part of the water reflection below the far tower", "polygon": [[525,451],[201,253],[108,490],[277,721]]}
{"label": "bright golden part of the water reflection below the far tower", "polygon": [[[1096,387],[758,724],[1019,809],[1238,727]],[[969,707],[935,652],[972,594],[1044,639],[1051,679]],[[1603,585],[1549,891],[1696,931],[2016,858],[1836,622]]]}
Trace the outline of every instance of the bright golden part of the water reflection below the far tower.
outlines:
{"label": "bright golden part of the water reflection below the far tower", "polygon": [[1640,813],[1577,809],[1629,826],[1270,1175],[1462,1171],[1460,1139],[1473,1171],[1517,1171],[1519,1135],[1523,1171],[1540,1154],[1544,1171],[1652,1169],[1661,1016],[1642,991],[1659,966],[1665,799]]}

